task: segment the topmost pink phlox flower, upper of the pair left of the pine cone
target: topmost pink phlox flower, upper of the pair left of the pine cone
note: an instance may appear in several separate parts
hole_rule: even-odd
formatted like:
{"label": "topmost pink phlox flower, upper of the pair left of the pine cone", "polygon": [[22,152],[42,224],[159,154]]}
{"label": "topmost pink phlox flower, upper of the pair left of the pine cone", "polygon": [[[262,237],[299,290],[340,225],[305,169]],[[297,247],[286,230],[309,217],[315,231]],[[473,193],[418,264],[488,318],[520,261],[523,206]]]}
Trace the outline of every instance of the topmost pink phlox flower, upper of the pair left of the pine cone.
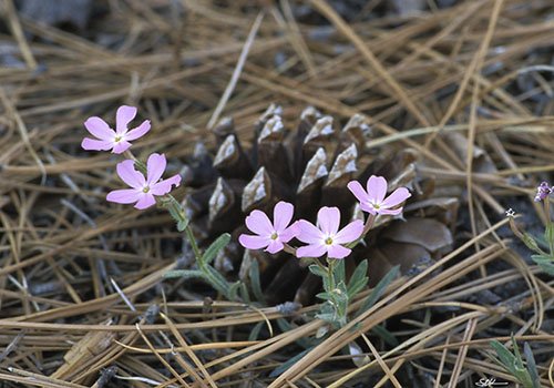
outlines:
{"label": "topmost pink phlox flower, upper of the pair left of the pine cone", "polygon": [[125,152],[131,146],[131,141],[143,136],[150,131],[150,120],[144,120],[141,125],[133,130],[127,129],[129,123],[135,115],[136,108],[120,106],[115,114],[115,131],[104,120],[96,116],[89,118],[84,122],[84,126],[96,139],[84,137],[81,146],[88,151],[112,150],[115,154]]}

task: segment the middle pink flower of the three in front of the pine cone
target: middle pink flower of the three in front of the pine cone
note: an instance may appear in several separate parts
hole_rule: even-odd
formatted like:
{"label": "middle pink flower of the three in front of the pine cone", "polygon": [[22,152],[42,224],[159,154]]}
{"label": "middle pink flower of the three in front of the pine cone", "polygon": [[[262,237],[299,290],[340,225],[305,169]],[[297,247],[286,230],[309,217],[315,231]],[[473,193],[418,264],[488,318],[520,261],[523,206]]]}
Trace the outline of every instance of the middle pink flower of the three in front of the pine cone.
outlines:
{"label": "middle pink flower of the three in front of the pine cone", "polygon": [[338,207],[324,206],[317,213],[317,226],[300,219],[298,227],[300,233],[297,238],[308,245],[296,249],[297,257],[320,257],[325,254],[330,258],[345,258],[351,252],[342,246],[355,242],[363,232],[363,222],[352,221],[339,231],[340,212]]}

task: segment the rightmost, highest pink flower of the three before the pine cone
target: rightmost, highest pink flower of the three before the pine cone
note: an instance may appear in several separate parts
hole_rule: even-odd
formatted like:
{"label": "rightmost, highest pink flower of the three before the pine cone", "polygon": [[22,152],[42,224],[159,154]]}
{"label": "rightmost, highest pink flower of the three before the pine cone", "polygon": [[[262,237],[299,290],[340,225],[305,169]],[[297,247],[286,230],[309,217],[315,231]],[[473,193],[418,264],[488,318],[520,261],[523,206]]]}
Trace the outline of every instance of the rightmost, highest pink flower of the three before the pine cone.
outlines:
{"label": "rightmost, highest pink flower of the three before the pine cone", "polygon": [[399,187],[394,190],[388,197],[384,197],[387,195],[387,180],[382,176],[376,175],[371,175],[369,177],[367,191],[363,190],[358,181],[349,182],[347,187],[360,202],[361,210],[373,215],[400,214],[402,212],[402,207],[397,206],[411,196],[408,188]]}

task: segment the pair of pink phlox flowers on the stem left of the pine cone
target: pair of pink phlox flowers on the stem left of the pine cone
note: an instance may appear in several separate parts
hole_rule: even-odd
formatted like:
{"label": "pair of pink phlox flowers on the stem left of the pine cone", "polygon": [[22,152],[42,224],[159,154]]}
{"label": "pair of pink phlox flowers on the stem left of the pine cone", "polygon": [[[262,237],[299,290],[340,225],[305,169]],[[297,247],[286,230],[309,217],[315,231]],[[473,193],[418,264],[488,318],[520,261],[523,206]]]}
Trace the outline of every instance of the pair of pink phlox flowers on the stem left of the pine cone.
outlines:
{"label": "pair of pink phlox flowers on the stem left of the pine cone", "polygon": [[[129,130],[129,123],[135,118],[136,108],[120,106],[115,115],[115,131],[100,118],[89,118],[84,122],[86,130],[96,139],[85,137],[81,146],[88,151],[109,151],[121,154],[131,147],[131,141],[137,140],[150,131],[150,121],[145,120],[141,125]],[[134,203],[136,208],[143,210],[156,203],[155,196],[165,195],[172,191],[172,186],[181,184],[181,176],[173,175],[167,180],[161,180],[165,172],[167,162],[164,154],[153,153],[146,162],[146,177],[135,170],[135,161],[132,159],[117,163],[117,175],[131,188],[115,190],[107,194],[106,200],[120,204]]]}

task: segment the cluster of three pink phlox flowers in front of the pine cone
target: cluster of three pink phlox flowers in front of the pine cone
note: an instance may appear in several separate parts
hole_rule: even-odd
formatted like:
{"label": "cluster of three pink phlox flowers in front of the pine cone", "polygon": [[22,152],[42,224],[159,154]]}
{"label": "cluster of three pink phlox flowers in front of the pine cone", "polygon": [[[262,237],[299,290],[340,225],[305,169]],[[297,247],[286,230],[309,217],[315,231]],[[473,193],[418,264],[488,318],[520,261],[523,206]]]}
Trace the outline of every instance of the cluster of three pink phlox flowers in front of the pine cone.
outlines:
{"label": "cluster of three pink phlox flowers in front of the pine cone", "polygon": [[[398,215],[402,212],[399,207],[411,196],[406,187],[399,187],[387,195],[387,180],[372,175],[367,182],[367,191],[361,184],[352,181],[348,188],[360,203],[360,208],[372,216]],[[256,235],[242,234],[239,243],[248,249],[260,249],[275,254],[283,251],[287,243],[297,238],[307,245],[297,248],[297,257],[345,258],[351,249],[345,245],[356,242],[365,232],[362,221],[352,221],[339,231],[340,212],[338,207],[324,206],[317,214],[317,224],[299,219],[290,225],[294,206],[287,202],[279,202],[274,208],[274,222],[260,212],[253,211],[246,217],[246,227]],[[366,231],[367,232],[367,231]]]}

